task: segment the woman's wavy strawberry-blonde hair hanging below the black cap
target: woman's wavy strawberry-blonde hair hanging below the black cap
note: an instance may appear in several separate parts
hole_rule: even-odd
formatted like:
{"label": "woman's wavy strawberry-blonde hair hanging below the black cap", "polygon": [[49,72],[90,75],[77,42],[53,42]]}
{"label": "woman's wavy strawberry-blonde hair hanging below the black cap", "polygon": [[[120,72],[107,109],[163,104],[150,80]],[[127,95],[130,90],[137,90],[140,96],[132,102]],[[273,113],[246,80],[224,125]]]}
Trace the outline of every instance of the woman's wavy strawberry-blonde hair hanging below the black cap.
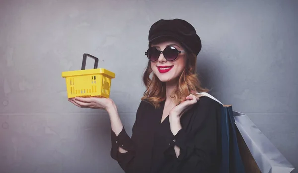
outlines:
{"label": "woman's wavy strawberry-blonde hair hanging below the black cap", "polygon": [[[196,74],[197,56],[186,51],[186,68],[179,77],[177,87],[171,94],[176,105],[185,100],[189,94],[200,97],[197,92],[208,92],[209,90],[201,87],[201,82]],[[141,100],[147,100],[155,108],[160,107],[160,102],[166,99],[165,82],[161,82],[158,77],[152,73],[151,63],[148,61],[147,67],[143,73],[143,83],[146,86],[144,96]],[[152,76],[152,77],[150,77]]]}

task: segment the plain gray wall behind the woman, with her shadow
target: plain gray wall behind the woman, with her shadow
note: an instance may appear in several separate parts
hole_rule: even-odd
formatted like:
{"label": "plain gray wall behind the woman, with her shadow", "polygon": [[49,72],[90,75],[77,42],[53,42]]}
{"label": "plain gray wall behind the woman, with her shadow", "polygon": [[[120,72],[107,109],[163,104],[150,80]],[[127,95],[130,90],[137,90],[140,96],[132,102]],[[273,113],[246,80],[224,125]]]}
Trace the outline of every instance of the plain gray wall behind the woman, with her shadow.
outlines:
{"label": "plain gray wall behind the woman, with her shadow", "polygon": [[194,25],[204,86],[298,167],[297,17],[297,0],[0,0],[0,173],[122,173],[107,114],[69,103],[61,72],[99,57],[131,134],[161,18]]}

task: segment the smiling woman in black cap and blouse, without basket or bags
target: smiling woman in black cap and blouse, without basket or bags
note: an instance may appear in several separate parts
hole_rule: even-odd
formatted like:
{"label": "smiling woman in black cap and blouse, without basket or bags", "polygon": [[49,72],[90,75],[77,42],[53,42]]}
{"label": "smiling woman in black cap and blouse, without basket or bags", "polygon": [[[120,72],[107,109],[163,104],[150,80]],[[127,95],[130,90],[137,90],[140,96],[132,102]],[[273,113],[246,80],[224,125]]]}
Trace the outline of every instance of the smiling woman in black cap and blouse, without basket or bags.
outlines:
{"label": "smiling woman in black cap and blouse, without basket or bags", "polygon": [[200,50],[200,37],[184,20],[159,20],[151,26],[145,53],[149,61],[143,74],[147,89],[131,138],[113,100],[69,99],[76,106],[108,112],[111,157],[126,173],[217,172],[220,107],[197,94],[207,91],[195,75]]}

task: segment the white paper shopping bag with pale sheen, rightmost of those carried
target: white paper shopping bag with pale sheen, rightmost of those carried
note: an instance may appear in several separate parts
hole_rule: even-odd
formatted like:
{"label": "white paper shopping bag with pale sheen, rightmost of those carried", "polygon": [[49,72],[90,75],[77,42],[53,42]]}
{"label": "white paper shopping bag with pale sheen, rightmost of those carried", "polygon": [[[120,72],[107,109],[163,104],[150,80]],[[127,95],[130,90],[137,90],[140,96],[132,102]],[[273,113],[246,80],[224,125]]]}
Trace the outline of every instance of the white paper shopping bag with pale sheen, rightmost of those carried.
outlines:
{"label": "white paper shopping bag with pale sheen, rightmost of those carried", "polygon": [[294,167],[246,114],[233,111],[235,123],[262,173],[290,173]]}

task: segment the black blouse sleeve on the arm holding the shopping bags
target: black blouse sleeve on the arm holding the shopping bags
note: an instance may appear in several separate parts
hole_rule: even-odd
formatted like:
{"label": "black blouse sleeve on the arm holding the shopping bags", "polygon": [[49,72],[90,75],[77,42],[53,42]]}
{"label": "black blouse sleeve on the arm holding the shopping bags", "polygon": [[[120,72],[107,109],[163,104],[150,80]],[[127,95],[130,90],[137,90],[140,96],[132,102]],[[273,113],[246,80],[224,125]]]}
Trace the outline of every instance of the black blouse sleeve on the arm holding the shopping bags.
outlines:
{"label": "black blouse sleeve on the arm holding the shopping bags", "polygon": [[[199,101],[193,110],[192,126],[172,136],[165,156],[173,162],[171,173],[210,173],[219,161],[219,118],[220,106],[211,99]],[[176,157],[174,146],[180,148]],[[213,170],[213,171],[211,171]]]}

